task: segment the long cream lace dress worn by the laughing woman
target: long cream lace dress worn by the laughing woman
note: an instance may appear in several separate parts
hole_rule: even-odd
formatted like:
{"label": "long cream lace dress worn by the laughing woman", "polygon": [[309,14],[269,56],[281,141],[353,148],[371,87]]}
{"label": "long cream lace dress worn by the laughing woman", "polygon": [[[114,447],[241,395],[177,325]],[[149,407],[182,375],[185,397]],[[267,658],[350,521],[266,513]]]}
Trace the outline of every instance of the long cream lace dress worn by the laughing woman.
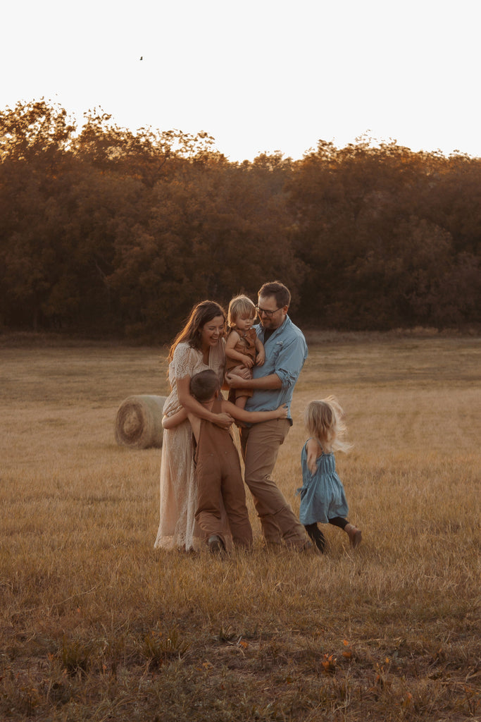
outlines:
{"label": "long cream lace dress worn by the laughing woman", "polygon": [[[213,369],[224,380],[225,341],[211,347],[208,366],[203,362],[202,352],[189,344],[177,344],[169,365],[171,392],[164,404],[164,415],[180,409],[177,396],[177,379],[193,377],[199,371]],[[162,441],[160,467],[160,523],[154,544],[162,549],[197,549],[200,546],[200,530],[195,527],[197,506],[197,483],[193,456],[192,428],[185,421],[173,429],[165,429]]]}

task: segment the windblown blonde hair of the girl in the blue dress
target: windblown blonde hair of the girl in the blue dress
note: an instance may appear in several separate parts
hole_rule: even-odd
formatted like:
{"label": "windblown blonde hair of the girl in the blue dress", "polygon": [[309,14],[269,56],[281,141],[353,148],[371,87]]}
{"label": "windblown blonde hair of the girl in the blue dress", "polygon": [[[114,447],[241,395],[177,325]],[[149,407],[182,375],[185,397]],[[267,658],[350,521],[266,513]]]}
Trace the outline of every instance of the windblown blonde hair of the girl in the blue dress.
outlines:
{"label": "windblown blonde hair of the girl in the blue dress", "polygon": [[352,444],[344,440],[347,431],[344,412],[335,396],[311,401],[304,412],[304,424],[309,434],[319,439],[326,453],[352,448]]}

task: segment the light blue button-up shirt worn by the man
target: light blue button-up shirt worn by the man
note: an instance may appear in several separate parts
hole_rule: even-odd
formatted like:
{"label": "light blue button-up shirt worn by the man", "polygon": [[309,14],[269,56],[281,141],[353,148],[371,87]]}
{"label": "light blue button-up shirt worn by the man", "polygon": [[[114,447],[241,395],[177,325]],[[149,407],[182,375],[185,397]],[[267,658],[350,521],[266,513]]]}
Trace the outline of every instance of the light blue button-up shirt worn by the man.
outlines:
{"label": "light blue button-up shirt worn by the man", "polygon": [[[264,329],[260,324],[254,326],[260,341],[264,343]],[[291,401],[294,386],[307,358],[307,344],[304,334],[291,319],[275,329],[265,343],[265,364],[255,366],[254,378],[262,378],[276,373],[281,379],[281,388],[255,389],[254,395],[247,399],[246,411],[272,411],[281,404],[288,405],[288,419],[291,419]]]}

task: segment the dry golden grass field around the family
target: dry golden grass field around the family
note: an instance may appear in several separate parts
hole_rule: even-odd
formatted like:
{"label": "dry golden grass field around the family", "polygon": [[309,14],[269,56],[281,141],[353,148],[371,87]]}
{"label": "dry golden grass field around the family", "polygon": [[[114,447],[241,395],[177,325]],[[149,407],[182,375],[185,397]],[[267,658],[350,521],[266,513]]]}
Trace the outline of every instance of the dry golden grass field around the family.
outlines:
{"label": "dry golden grass field around the family", "polygon": [[[160,450],[115,444],[164,351],[0,337],[0,719],[481,719],[481,339],[310,334],[276,466],[335,393],[355,552],[153,548]],[[323,530],[325,527],[323,527]]]}

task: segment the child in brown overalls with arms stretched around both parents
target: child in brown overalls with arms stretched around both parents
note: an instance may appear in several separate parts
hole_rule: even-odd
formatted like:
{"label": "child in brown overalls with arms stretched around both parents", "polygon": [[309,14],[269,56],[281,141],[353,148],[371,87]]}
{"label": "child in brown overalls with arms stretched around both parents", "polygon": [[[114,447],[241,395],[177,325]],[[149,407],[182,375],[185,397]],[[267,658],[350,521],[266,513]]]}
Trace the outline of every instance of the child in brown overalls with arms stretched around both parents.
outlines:
{"label": "child in brown overalls with arms stretched around both parents", "polygon": [[[234,419],[247,423],[287,417],[286,405],[279,406],[275,411],[247,412],[230,401],[224,401],[219,379],[211,369],[200,371],[190,379],[190,393],[214,414],[231,414]],[[245,503],[239,454],[231,433],[194,414],[187,414],[185,409],[172,416],[164,416],[162,426],[170,429],[187,418],[196,443],[198,500],[195,520],[203,530],[211,552],[223,552],[226,549],[226,539],[221,531],[223,502],[234,544],[248,549],[252,546],[252,528]]]}

